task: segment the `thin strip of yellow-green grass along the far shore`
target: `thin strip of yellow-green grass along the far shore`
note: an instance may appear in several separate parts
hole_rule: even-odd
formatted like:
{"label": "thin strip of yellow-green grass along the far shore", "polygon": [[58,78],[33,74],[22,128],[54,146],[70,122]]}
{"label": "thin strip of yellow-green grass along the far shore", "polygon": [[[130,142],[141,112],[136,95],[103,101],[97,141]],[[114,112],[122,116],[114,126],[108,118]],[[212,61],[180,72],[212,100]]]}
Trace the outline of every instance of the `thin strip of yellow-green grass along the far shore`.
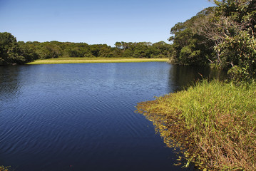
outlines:
{"label": "thin strip of yellow-green grass along the far shore", "polygon": [[36,60],[33,64],[58,64],[58,63],[127,63],[127,62],[166,62],[168,58],[50,58]]}

